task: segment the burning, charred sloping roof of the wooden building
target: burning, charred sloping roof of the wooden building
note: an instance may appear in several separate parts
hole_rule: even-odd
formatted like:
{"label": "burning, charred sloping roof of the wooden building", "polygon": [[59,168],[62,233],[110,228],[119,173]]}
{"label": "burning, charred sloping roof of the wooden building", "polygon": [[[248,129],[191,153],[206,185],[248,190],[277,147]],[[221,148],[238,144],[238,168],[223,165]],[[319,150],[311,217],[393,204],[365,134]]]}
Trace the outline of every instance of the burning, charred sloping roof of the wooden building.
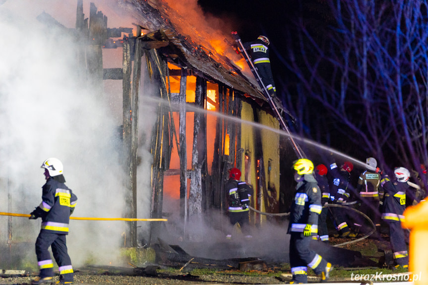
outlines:
{"label": "burning, charred sloping roof of the wooden building", "polygon": [[[194,69],[194,73],[208,80],[221,82],[232,89],[242,92],[260,105],[267,102],[252,74],[246,76],[229,57],[217,53],[211,46],[207,35],[192,29],[192,35],[184,35],[189,25],[163,0],[124,0],[133,16],[144,29],[155,31],[146,34],[143,41],[163,41],[168,45],[159,52],[178,65]],[[133,6],[133,7],[132,7]],[[136,9],[135,9],[136,8]],[[228,35],[229,37],[229,35]],[[225,39],[226,44],[228,40]],[[207,48],[209,47],[209,48]],[[235,53],[228,44],[230,52]],[[237,57],[241,57],[235,54]],[[246,64],[246,63],[245,63]]]}

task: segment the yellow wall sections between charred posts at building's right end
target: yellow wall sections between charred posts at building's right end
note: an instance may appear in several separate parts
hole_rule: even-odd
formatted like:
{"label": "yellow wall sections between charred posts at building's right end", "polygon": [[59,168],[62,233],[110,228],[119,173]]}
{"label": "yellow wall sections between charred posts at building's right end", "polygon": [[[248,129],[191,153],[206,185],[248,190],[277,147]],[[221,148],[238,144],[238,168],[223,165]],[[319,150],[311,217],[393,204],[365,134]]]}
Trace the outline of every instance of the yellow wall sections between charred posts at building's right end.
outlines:
{"label": "yellow wall sections between charred posts at building's right end", "polygon": [[[278,120],[270,114],[267,114],[264,111],[257,111],[260,123],[271,128],[279,129]],[[241,118],[246,121],[254,122],[253,109],[250,104],[243,101]],[[262,193],[261,201],[261,211],[278,213],[278,201],[279,201],[279,134],[272,132],[271,130],[261,129],[260,132],[261,141],[262,141],[262,152],[263,152],[263,163],[264,163],[264,177],[265,185],[264,188],[268,189],[268,163],[271,160],[271,172],[270,172],[270,189],[272,191],[264,191]],[[242,123],[241,126],[241,147],[245,150],[242,153],[242,180],[245,179],[245,153],[249,152],[251,163],[248,175],[247,183],[251,184],[254,189],[254,195],[251,197],[251,206],[255,207],[255,191],[256,191],[256,150],[255,150],[255,127],[249,124]],[[276,210],[275,210],[276,209]],[[259,221],[254,221],[255,217],[254,212],[251,212],[251,223],[263,223],[266,221],[265,215],[260,215]]]}

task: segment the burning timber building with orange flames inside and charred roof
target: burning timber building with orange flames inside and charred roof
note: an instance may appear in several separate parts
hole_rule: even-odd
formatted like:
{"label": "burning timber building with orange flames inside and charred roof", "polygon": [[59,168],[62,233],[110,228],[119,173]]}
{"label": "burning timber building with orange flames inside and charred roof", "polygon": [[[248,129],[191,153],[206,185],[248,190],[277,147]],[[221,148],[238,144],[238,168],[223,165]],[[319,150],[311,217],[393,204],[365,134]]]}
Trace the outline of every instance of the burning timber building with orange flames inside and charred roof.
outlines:
{"label": "burning timber building with orange flames inside and charred roof", "polygon": [[[189,25],[163,0],[112,3],[131,16],[126,27],[110,28],[108,15],[94,3],[86,18],[83,0],[77,1],[74,29],[65,28],[61,19],[49,13],[37,17],[49,29],[58,29],[77,43],[73,64],[79,82],[90,88],[98,102],[106,101],[107,84],[120,86],[110,95],[122,101],[117,123],[119,155],[111,161],[121,166],[124,201],[120,210],[108,214],[167,217],[181,225],[183,238],[191,237],[186,223],[203,220],[209,224],[211,213],[226,213],[224,185],[233,167],[240,169],[242,180],[252,186],[251,206],[255,210],[284,210],[293,186],[280,184],[281,168],[289,170],[296,156],[246,63],[231,46],[230,35]],[[147,110],[152,113],[145,113]],[[149,168],[141,171],[143,165]],[[11,193],[16,182],[6,180],[2,180],[2,189]],[[149,182],[142,186],[140,181]],[[87,193],[76,194],[80,200],[89,200]],[[107,196],[97,201],[102,203]],[[2,197],[9,200],[0,206],[8,212],[20,211],[10,194]],[[140,197],[147,204],[142,205]],[[91,209],[94,212],[81,213],[103,216],[96,206]],[[76,215],[78,211],[77,207]],[[251,212],[252,225],[261,226],[267,219]],[[18,218],[1,218],[0,222],[5,225],[0,236],[9,248],[31,242],[31,237],[17,230],[24,224]],[[160,236],[161,230],[161,224],[152,224],[144,232],[149,232],[149,237],[144,238]],[[139,236],[137,222],[129,222],[122,234],[123,245],[137,246]]]}

